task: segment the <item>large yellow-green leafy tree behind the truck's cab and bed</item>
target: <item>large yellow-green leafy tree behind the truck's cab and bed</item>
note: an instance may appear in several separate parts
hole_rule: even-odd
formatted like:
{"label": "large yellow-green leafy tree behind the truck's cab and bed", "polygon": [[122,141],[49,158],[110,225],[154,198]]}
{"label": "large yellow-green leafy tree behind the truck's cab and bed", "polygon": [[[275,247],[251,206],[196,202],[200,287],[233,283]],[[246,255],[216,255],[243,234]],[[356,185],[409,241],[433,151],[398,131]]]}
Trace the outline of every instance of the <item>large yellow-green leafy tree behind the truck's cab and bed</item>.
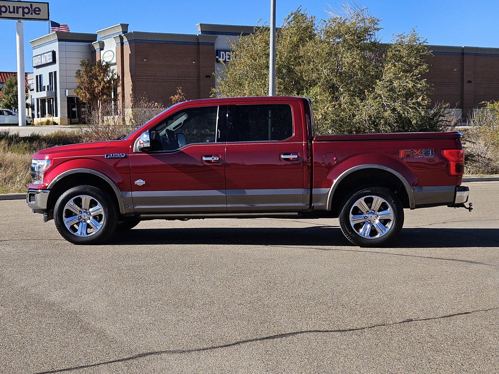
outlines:
{"label": "large yellow-green leafy tree behind the truck's cab and bed", "polygon": [[[276,32],[276,95],[309,97],[317,134],[440,131],[446,106],[431,107],[430,51],[413,29],[382,43],[380,19],[346,5],[317,20],[303,9]],[[216,72],[215,96],[268,92],[268,27],[231,41],[232,59]]]}

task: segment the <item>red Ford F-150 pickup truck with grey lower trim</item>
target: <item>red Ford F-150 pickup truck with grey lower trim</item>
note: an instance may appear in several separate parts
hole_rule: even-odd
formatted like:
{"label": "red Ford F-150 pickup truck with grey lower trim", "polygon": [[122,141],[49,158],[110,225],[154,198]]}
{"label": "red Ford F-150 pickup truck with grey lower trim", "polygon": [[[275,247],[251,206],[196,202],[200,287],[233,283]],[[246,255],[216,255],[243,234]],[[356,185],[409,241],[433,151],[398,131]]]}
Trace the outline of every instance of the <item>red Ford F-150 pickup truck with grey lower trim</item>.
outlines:
{"label": "red Ford F-150 pickup truck with grey lower trim", "polygon": [[306,98],[192,100],[123,139],[37,152],[27,203],[76,244],[145,219],[339,217],[351,242],[380,246],[404,208],[466,207],[460,138],[314,136]]}

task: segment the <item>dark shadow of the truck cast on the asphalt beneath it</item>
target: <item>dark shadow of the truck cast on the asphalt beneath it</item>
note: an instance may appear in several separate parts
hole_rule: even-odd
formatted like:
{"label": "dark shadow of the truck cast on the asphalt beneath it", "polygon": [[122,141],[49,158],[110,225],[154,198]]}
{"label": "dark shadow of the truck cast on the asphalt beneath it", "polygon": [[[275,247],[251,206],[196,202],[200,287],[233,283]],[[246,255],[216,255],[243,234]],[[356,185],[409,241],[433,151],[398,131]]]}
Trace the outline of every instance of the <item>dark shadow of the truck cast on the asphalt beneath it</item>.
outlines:
{"label": "dark shadow of the truck cast on the asphalt beneath it", "polygon": [[[388,248],[499,247],[498,228],[402,229]],[[114,234],[109,244],[239,244],[275,247],[354,247],[338,226],[146,228]],[[332,248],[331,248],[332,249]]]}

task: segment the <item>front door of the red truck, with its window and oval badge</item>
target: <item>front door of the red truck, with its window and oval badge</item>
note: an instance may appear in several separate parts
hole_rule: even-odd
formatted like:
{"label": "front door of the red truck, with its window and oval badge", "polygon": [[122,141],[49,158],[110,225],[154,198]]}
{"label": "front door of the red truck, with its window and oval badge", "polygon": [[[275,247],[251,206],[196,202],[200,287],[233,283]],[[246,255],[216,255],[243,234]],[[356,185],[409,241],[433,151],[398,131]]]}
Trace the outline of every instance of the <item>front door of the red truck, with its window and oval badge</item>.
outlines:
{"label": "front door of the red truck, with its window and oval badge", "polygon": [[130,154],[135,212],[227,210],[226,118],[227,106],[187,108],[150,129],[153,150]]}

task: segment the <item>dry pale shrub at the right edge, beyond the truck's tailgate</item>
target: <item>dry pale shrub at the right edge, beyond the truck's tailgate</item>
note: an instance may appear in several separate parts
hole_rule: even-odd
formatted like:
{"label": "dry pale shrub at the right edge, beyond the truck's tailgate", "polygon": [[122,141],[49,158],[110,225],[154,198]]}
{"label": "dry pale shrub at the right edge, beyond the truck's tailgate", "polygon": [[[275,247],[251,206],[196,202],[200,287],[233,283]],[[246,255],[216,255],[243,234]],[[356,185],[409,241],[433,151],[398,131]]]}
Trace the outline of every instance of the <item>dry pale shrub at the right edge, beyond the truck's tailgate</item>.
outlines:
{"label": "dry pale shrub at the right edge, beyond the truck's tailgate", "polygon": [[466,174],[499,174],[499,103],[485,104],[463,131]]}

